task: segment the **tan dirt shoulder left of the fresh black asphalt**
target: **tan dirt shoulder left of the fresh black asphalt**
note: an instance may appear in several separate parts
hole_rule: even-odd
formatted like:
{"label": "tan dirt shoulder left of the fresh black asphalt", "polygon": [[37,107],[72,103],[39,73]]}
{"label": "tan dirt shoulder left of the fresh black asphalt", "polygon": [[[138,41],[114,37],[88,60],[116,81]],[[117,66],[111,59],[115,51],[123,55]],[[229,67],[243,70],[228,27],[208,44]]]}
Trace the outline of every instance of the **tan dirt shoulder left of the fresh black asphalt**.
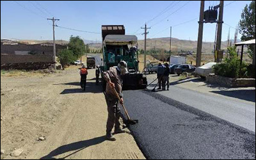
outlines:
{"label": "tan dirt shoulder left of the fresh black asphalt", "polygon": [[[89,70],[86,92],[77,68],[47,76],[1,76],[1,159],[145,159],[130,134],[106,141],[108,112],[94,75]],[[24,152],[11,157],[19,148]]]}

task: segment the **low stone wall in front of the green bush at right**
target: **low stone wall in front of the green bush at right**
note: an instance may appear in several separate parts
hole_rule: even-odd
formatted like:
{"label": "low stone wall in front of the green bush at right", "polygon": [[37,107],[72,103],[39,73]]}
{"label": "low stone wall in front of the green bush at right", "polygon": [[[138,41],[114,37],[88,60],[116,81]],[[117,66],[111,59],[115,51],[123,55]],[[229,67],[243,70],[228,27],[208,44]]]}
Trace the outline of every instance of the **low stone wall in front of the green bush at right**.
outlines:
{"label": "low stone wall in front of the green bush at right", "polygon": [[206,77],[206,82],[211,84],[219,84],[220,86],[225,86],[228,88],[255,86],[255,79],[253,78],[229,78],[215,74],[209,74],[209,76]]}

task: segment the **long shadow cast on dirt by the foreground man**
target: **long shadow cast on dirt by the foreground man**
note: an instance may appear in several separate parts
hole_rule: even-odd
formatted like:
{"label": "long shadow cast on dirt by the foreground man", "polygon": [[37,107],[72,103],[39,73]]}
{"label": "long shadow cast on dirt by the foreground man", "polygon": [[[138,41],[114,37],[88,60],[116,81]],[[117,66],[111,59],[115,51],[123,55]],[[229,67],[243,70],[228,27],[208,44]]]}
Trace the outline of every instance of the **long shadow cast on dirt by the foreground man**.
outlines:
{"label": "long shadow cast on dirt by the foreground man", "polygon": [[57,159],[54,157],[76,150],[75,152],[72,152],[71,154],[68,154],[65,157],[58,158],[58,159],[65,159],[67,157],[70,157],[70,156],[76,154],[77,152],[80,152],[81,150],[84,150],[87,147],[91,147],[93,145],[98,145],[104,141],[106,141],[106,136],[100,136],[100,137],[93,138],[90,140],[77,141],[74,143],[70,143],[68,145],[63,145],[61,147],[58,147],[55,150],[52,150],[52,152],[50,152],[48,155],[41,157],[40,159]]}

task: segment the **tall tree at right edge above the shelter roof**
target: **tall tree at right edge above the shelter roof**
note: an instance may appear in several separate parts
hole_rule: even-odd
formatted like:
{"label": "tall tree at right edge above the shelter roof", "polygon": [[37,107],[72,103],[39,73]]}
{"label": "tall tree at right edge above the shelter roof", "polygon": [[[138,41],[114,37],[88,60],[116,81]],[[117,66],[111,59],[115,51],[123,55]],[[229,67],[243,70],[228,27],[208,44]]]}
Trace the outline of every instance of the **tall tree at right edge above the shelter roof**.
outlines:
{"label": "tall tree at right edge above the shelter roof", "polygon": [[[239,33],[242,35],[241,40],[255,39],[255,1],[252,1],[249,6],[246,4],[241,14],[241,20],[239,21]],[[254,47],[248,46],[250,49],[250,57],[253,57]]]}

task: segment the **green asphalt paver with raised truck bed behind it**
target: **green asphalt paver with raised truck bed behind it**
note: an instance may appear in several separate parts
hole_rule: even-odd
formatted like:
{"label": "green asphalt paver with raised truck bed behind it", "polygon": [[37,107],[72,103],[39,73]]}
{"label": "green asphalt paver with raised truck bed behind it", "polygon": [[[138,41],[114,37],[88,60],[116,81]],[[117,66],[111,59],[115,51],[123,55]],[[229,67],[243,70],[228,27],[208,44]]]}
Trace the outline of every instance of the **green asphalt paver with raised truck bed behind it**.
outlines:
{"label": "green asphalt paver with raised truck bed behind it", "polygon": [[[135,35],[125,35],[123,25],[102,25],[102,54],[102,74],[110,67],[117,66],[120,61],[126,61],[129,74],[123,76],[123,90],[147,87],[147,77],[138,70],[138,38]],[[104,79],[102,81],[104,90],[106,82]]]}

